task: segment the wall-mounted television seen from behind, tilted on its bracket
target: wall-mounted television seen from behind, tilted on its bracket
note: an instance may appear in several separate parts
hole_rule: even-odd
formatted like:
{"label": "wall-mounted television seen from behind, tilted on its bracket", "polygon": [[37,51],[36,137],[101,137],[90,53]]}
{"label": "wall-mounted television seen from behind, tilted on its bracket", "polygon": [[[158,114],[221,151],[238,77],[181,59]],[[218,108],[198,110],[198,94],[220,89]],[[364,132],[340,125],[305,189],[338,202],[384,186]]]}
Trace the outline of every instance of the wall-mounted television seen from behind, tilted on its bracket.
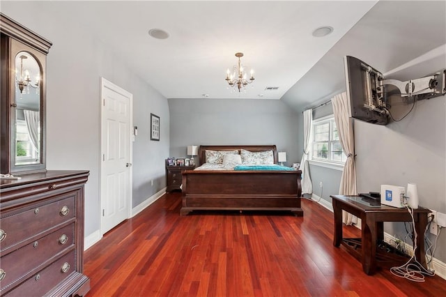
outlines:
{"label": "wall-mounted television seen from behind, tilted on its bracket", "polygon": [[344,57],[344,66],[350,116],[368,123],[387,125],[385,92],[379,84],[383,75],[353,56]]}

